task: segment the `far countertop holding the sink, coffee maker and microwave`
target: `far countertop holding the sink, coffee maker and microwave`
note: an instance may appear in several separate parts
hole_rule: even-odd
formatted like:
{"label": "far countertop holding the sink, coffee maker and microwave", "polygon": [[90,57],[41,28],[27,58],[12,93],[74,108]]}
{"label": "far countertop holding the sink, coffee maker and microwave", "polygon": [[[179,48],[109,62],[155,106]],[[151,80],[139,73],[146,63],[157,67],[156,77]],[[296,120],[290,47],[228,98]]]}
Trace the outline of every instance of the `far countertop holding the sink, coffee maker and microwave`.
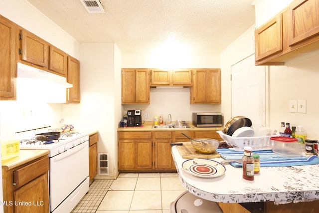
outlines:
{"label": "far countertop holding the sink, coffee maker and microwave", "polygon": [[192,128],[152,128],[153,122],[147,121],[143,124],[143,127],[123,127],[118,128],[117,131],[218,131],[223,130],[223,127],[195,127],[194,125],[189,123],[188,126],[191,126]]}

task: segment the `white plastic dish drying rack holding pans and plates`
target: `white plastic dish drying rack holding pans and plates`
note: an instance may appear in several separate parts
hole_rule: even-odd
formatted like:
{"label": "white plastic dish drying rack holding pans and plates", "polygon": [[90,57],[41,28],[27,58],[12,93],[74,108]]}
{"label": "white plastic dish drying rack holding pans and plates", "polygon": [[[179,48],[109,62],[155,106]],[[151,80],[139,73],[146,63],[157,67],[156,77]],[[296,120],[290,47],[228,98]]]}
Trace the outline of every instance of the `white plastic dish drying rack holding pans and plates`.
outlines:
{"label": "white plastic dish drying rack holding pans and plates", "polygon": [[224,134],[222,131],[216,131],[222,139],[226,142],[231,143],[234,148],[231,150],[243,152],[244,147],[252,147],[254,151],[260,150],[271,150],[273,148],[274,142],[270,140],[271,137],[276,135],[267,135],[262,137],[232,137],[230,135]]}

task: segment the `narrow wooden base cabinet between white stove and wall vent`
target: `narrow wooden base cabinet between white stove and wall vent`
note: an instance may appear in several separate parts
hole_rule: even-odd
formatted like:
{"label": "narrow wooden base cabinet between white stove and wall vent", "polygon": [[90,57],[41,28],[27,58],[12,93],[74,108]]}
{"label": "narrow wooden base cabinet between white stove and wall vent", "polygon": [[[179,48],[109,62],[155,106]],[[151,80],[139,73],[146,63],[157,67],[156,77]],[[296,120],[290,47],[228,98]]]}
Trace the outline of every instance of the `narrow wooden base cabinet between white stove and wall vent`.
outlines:
{"label": "narrow wooden base cabinet between white stove and wall vent", "polygon": [[90,183],[98,174],[98,141],[99,133],[89,135],[89,176]]}

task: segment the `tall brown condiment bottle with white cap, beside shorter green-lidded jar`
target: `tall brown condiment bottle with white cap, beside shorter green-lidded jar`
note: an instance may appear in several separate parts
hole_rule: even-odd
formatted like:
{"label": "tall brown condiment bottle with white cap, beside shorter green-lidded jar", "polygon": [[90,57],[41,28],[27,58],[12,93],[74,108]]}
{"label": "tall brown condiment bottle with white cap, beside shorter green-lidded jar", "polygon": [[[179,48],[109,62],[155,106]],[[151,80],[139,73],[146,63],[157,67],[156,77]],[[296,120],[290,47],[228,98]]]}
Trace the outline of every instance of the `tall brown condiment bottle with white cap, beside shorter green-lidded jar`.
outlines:
{"label": "tall brown condiment bottle with white cap, beside shorter green-lidded jar", "polygon": [[255,160],[253,158],[253,148],[244,147],[244,156],[243,156],[243,179],[248,181],[255,180]]}

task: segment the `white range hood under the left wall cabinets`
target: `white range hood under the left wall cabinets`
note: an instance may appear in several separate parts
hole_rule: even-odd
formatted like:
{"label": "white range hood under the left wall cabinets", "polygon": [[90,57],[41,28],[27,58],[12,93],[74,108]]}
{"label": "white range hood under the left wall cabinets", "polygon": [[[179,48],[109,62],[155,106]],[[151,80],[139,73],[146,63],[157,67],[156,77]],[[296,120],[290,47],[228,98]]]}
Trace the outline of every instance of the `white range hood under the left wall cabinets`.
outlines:
{"label": "white range hood under the left wall cabinets", "polygon": [[46,87],[71,88],[72,84],[66,82],[66,78],[53,73],[37,69],[22,63],[17,63],[17,79],[29,79],[29,83],[45,85]]}

